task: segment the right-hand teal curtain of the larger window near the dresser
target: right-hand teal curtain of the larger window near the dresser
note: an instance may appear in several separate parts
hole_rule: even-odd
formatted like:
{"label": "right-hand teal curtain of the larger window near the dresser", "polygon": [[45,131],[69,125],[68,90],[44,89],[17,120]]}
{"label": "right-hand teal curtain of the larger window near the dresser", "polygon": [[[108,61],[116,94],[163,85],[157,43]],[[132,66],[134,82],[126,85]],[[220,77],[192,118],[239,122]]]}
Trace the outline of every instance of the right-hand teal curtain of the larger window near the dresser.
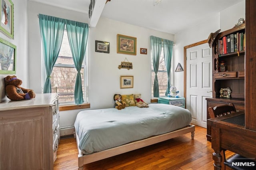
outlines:
{"label": "right-hand teal curtain of the larger window near the dresser", "polygon": [[84,103],[81,77],[82,73],[80,71],[86,54],[89,26],[86,23],[71,20],[65,20],[65,23],[68,33],[68,42],[77,70],[74,100],[76,105],[80,105]]}

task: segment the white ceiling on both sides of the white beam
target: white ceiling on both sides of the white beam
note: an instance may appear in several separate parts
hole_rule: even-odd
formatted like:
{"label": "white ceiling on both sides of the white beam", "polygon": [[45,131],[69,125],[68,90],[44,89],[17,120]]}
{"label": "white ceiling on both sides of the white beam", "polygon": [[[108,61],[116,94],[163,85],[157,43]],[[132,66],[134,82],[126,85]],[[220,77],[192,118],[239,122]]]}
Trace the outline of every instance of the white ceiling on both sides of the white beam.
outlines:
{"label": "white ceiling on both sides of the white beam", "polygon": [[[30,0],[88,14],[90,0]],[[244,0],[111,0],[101,16],[176,34]],[[160,3],[158,3],[160,2]],[[95,8],[95,7],[94,7]],[[238,18],[239,19],[239,18]]]}

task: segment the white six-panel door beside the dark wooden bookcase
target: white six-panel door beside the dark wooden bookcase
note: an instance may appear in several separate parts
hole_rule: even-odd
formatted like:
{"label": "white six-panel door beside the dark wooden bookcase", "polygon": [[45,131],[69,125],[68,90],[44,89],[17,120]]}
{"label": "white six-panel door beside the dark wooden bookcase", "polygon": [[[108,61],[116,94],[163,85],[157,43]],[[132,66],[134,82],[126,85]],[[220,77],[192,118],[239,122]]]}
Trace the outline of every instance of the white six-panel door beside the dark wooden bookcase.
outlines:
{"label": "white six-panel door beside the dark wooden bookcase", "polygon": [[208,43],[186,49],[186,109],[192,123],[206,128],[206,98],[212,97],[212,49]]}

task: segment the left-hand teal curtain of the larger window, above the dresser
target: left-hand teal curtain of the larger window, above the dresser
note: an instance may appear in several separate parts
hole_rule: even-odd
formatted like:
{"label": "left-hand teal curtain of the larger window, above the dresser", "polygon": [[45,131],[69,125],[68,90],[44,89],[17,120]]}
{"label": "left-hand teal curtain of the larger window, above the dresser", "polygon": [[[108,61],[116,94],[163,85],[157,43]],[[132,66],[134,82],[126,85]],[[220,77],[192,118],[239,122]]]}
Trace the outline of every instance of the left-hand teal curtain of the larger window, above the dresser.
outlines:
{"label": "left-hand teal curtain of the larger window, above the dresser", "polygon": [[51,73],[58,58],[64,33],[64,19],[39,14],[40,33],[47,78],[44,93],[52,93]]}

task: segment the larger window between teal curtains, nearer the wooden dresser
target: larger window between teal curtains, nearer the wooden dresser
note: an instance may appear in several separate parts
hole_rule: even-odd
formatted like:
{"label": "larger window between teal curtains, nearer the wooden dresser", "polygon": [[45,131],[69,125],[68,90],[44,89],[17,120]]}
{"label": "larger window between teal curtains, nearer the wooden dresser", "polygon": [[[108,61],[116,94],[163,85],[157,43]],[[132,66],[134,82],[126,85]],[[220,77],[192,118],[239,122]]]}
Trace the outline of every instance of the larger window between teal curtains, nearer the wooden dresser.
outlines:
{"label": "larger window between teal curtains, nearer the wooden dresser", "polygon": [[[84,102],[87,103],[86,66],[84,64],[81,73]],[[59,93],[60,105],[74,104],[76,74],[76,67],[68,43],[68,34],[65,29],[60,53],[51,74],[52,93]]]}

